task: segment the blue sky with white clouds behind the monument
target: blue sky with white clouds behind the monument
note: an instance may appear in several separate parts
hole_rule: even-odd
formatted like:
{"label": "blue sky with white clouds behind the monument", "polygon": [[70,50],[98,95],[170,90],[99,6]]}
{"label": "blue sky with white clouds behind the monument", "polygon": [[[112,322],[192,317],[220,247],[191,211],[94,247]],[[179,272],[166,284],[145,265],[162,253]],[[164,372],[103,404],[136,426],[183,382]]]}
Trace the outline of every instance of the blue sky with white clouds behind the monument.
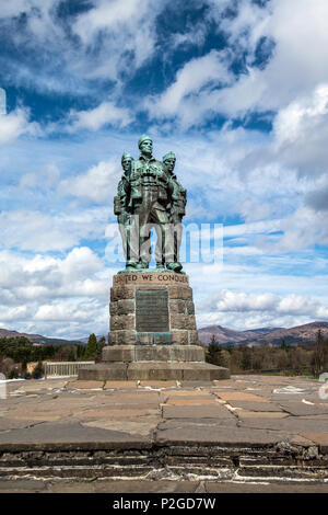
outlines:
{"label": "blue sky with white clouds behind the monument", "polygon": [[11,0],[0,48],[0,327],[107,333],[144,131],[186,224],[223,224],[223,263],[185,264],[198,325],[328,321],[327,0]]}

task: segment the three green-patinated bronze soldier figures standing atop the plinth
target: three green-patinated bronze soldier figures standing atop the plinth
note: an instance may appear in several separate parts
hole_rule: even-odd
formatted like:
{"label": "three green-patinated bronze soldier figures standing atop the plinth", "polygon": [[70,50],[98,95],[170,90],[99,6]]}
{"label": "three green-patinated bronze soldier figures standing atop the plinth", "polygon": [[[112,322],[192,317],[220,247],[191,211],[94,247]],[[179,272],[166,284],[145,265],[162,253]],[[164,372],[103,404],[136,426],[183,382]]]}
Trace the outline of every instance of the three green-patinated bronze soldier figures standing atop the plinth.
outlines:
{"label": "three green-patinated bronze soldier figures standing atop the plinth", "polygon": [[163,162],[152,156],[152,139],[143,135],[138,141],[140,157],[137,161],[127,152],[122,154],[124,174],[114,197],[126,256],[126,271],[149,268],[151,261],[150,237],[155,229],[156,270],[180,272],[179,248],[183,236],[186,190],[174,174],[175,154],[168,152]]}

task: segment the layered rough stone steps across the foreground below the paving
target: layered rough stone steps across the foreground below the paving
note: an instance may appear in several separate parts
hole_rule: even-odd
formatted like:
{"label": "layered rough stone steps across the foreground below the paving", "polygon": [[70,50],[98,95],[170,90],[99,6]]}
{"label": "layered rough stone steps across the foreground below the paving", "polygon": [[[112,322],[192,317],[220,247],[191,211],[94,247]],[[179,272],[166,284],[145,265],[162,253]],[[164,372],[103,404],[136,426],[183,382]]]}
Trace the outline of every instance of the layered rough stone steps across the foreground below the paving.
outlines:
{"label": "layered rough stone steps across the foreground below the paving", "polygon": [[[140,448],[139,448],[140,447]],[[319,482],[327,485],[327,456],[304,460],[302,448],[285,455],[272,445],[162,445],[93,442],[21,444],[0,448],[0,481],[37,478],[211,480],[234,483]]]}

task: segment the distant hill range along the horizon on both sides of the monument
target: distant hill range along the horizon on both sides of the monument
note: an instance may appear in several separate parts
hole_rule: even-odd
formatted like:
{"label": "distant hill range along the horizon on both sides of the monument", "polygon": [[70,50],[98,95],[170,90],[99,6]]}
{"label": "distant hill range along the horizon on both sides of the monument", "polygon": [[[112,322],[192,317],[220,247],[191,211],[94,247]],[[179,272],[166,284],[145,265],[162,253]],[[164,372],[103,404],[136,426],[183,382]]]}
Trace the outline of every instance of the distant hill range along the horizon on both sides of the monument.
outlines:
{"label": "distant hill range along the horizon on both sides of the monument", "polygon": [[[328,337],[328,322],[311,322],[295,328],[259,328],[247,331],[235,331],[234,329],[223,328],[222,325],[207,325],[198,330],[199,339],[208,345],[211,337],[222,345],[281,345],[284,340],[288,345],[313,344],[316,340],[318,330],[325,337]],[[8,329],[0,329],[0,337],[25,336],[37,344],[81,344],[86,343],[89,336],[79,340],[63,340],[56,337],[46,337],[40,334],[19,333]],[[101,336],[97,336],[97,340]]]}

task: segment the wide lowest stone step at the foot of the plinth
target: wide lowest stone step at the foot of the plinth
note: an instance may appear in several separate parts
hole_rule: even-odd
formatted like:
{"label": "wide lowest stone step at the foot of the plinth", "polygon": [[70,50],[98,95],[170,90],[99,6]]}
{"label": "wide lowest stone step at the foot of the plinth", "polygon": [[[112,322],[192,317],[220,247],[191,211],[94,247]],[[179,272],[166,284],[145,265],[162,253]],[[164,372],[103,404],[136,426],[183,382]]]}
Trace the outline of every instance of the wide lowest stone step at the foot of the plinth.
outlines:
{"label": "wide lowest stone step at the foot of the plinth", "polygon": [[209,363],[99,363],[79,369],[78,379],[82,380],[179,380],[213,381],[229,379],[230,370]]}

